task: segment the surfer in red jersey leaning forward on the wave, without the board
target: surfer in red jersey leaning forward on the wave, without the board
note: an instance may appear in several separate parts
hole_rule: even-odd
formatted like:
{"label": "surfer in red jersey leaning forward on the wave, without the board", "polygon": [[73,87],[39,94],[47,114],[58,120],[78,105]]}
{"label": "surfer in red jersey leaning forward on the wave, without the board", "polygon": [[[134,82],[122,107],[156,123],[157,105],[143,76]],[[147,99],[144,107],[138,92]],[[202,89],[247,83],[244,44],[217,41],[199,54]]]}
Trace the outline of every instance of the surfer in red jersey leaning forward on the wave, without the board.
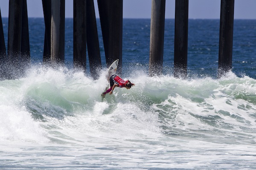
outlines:
{"label": "surfer in red jersey leaning forward on the wave, without the board", "polygon": [[130,89],[132,86],[135,85],[135,84],[131,83],[129,80],[125,81],[125,80],[121,79],[116,74],[112,75],[109,78],[109,83],[110,83],[110,88],[107,91],[102,93],[102,97],[105,97],[105,95],[107,93],[109,93],[111,95],[113,93],[113,90],[116,87]]}

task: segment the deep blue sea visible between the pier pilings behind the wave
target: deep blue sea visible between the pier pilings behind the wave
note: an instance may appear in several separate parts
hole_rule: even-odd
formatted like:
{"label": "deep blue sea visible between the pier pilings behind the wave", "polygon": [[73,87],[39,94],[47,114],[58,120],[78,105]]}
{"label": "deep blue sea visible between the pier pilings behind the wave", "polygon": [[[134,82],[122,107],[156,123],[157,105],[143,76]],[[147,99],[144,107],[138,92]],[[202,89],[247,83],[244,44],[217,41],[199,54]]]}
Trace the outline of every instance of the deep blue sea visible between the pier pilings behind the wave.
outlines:
{"label": "deep blue sea visible between the pier pilings behind the wave", "polygon": [[[164,74],[172,74],[174,65],[174,19],[166,19],[163,65]],[[105,53],[99,19],[97,19],[102,63]],[[3,28],[8,36],[8,18],[3,18]],[[256,20],[234,20],[233,72],[242,77],[256,78]],[[44,49],[44,19],[29,18],[31,58],[42,62]],[[219,20],[189,20],[188,73],[196,77],[216,77],[218,69]],[[144,65],[149,58],[150,19],[124,19],[122,57],[125,65]],[[88,58],[88,57],[87,57]],[[65,62],[73,65],[73,19],[65,21]],[[103,65],[104,66],[104,65]],[[87,68],[89,62],[87,59]],[[147,68],[145,69],[147,70]],[[89,72],[89,69],[87,69]]]}

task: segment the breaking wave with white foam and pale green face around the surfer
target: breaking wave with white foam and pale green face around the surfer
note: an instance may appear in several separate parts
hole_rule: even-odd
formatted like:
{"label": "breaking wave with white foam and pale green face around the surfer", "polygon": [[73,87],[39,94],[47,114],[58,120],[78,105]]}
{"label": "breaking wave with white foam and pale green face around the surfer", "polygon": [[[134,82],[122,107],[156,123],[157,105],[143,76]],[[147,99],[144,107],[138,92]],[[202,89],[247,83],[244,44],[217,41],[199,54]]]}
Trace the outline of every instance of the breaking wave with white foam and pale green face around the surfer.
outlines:
{"label": "breaking wave with white foam and pale green face around the surfer", "polygon": [[240,136],[233,142],[255,138],[255,79],[230,72],[221,79],[185,80],[137,71],[123,77],[133,88],[116,88],[102,100],[108,86],[105,73],[93,80],[83,71],[34,66],[23,78],[1,81],[0,139],[72,143],[81,136],[218,136],[216,142],[230,136]]}

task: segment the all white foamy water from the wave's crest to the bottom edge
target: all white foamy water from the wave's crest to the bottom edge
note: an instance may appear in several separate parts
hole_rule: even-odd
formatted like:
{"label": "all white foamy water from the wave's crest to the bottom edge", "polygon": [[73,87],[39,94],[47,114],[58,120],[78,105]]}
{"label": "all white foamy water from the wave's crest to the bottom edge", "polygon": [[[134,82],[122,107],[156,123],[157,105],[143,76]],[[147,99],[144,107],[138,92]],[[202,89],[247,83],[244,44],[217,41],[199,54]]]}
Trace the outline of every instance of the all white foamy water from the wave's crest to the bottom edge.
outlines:
{"label": "all white foamy water from the wave's crest to the bottom edge", "polygon": [[[256,80],[125,75],[108,86],[82,71],[34,66],[0,82],[5,169],[254,169]],[[8,159],[6,159],[8,158]]]}

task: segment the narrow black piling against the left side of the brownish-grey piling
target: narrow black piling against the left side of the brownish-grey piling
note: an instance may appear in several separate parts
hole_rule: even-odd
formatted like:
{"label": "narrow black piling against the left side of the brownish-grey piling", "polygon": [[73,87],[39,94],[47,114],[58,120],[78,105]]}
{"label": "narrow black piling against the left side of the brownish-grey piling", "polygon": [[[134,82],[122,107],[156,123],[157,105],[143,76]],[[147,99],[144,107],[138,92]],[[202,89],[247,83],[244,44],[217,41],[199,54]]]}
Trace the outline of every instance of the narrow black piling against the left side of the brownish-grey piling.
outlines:
{"label": "narrow black piling against the left side of the brownish-grey piling", "polygon": [[50,62],[51,59],[51,16],[52,16],[52,4],[51,0],[42,0],[44,11],[44,63]]}

